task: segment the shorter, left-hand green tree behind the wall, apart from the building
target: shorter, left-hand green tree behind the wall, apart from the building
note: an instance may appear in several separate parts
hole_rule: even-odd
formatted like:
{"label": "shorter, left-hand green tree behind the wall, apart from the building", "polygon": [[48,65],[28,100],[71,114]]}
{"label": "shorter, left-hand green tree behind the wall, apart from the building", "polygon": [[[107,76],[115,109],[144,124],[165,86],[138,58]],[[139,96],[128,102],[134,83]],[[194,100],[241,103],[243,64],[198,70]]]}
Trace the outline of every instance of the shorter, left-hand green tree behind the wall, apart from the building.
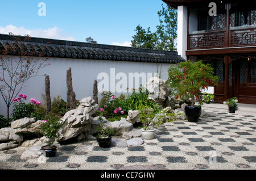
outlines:
{"label": "shorter, left-hand green tree behind the wall, apart from the building", "polygon": [[136,34],[133,36],[133,40],[131,40],[131,47],[148,49],[155,48],[157,40],[155,33],[151,33],[150,27],[147,28],[146,31],[138,25],[134,31],[136,32]]}

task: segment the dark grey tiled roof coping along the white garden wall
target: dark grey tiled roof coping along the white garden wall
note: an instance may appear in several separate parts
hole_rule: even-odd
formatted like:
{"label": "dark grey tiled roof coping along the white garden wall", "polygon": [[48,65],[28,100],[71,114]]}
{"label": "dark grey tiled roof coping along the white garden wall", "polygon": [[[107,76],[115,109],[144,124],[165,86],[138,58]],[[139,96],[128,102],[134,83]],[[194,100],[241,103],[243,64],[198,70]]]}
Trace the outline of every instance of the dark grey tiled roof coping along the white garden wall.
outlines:
{"label": "dark grey tiled roof coping along the white garden wall", "polygon": [[[19,48],[34,52],[34,56],[81,58],[92,60],[159,62],[176,64],[185,61],[177,52],[164,50],[121,47],[115,45],[90,44],[77,41],[44,39],[31,37],[23,41],[20,37]],[[0,34],[0,50],[14,44],[13,37]]]}

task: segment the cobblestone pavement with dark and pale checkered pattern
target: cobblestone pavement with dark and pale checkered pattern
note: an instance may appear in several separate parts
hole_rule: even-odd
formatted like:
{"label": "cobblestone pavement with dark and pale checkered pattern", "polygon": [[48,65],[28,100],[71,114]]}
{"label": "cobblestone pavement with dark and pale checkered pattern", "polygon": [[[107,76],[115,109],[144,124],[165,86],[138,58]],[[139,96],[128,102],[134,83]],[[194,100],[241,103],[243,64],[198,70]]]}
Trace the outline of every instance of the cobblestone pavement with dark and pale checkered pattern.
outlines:
{"label": "cobblestone pavement with dark and pale checkered pattern", "polygon": [[[61,145],[56,156],[21,159],[26,147],[0,151],[0,169],[116,170],[131,168],[235,170],[256,168],[256,117],[217,112],[198,123],[174,121],[154,139],[102,149],[96,140]],[[123,139],[119,137],[120,139]],[[141,166],[141,167],[140,167]]]}

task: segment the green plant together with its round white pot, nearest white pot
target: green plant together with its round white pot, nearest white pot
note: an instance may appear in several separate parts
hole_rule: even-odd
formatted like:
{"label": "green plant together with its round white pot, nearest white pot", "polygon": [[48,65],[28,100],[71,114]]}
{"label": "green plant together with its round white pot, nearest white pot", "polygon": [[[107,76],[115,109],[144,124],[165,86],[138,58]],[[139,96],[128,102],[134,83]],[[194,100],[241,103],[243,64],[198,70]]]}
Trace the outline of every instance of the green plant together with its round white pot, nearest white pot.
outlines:
{"label": "green plant together with its round white pot, nearest white pot", "polygon": [[141,128],[142,137],[146,140],[153,139],[156,131],[154,126],[159,124],[159,121],[152,121],[155,115],[153,109],[148,106],[140,106],[138,112],[139,120],[143,124],[143,127]]}

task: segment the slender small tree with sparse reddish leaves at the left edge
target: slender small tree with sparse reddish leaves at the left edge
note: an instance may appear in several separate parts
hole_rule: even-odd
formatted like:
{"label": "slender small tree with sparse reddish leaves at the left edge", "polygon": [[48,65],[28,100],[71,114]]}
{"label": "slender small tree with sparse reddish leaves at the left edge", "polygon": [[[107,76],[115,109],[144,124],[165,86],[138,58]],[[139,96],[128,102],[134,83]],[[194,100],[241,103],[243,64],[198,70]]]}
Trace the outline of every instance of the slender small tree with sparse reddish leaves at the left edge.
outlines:
{"label": "slender small tree with sparse reddish leaves at the left edge", "polygon": [[[45,62],[48,59],[48,57],[42,58],[42,52],[35,52],[32,45],[26,46],[24,42],[20,42],[21,36],[15,36],[13,33],[9,35],[13,37],[13,43],[0,50],[0,93],[7,106],[8,120],[13,99],[25,83],[37,76],[39,69],[47,65]],[[30,38],[29,35],[22,37],[23,41]],[[35,54],[39,57],[35,58]]]}

